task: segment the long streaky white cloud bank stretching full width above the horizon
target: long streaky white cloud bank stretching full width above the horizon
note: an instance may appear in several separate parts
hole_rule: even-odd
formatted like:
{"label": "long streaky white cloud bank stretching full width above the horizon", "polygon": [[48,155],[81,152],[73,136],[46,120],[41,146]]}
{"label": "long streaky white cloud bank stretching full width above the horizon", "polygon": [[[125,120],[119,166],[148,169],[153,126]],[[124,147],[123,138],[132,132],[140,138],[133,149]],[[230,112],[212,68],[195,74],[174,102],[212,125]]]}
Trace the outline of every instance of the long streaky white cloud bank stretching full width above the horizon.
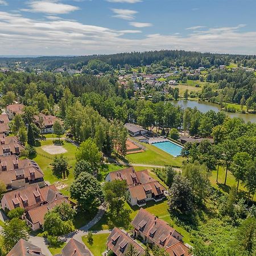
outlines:
{"label": "long streaky white cloud bank stretching full width above the horizon", "polygon": [[[0,11],[0,55],[88,55],[184,49],[187,51],[255,54],[256,31],[234,27],[205,28],[188,35],[143,34],[112,30],[75,20],[40,20]],[[123,37],[123,35],[129,34]]]}

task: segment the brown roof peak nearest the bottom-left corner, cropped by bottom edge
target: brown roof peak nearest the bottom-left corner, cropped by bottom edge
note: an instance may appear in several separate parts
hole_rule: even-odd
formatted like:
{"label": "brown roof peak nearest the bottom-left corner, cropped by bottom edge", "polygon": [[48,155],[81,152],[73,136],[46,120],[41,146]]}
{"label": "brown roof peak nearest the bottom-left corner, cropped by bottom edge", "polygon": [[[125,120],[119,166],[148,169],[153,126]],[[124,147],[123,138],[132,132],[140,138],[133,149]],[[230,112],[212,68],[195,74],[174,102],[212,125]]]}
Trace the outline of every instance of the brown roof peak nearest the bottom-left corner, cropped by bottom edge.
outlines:
{"label": "brown roof peak nearest the bottom-left corner, cropped by bottom edge", "polygon": [[33,245],[30,242],[27,242],[23,239],[20,239],[18,243],[9,251],[6,256],[32,256],[32,255],[40,255],[42,254],[41,249],[38,246]]}

